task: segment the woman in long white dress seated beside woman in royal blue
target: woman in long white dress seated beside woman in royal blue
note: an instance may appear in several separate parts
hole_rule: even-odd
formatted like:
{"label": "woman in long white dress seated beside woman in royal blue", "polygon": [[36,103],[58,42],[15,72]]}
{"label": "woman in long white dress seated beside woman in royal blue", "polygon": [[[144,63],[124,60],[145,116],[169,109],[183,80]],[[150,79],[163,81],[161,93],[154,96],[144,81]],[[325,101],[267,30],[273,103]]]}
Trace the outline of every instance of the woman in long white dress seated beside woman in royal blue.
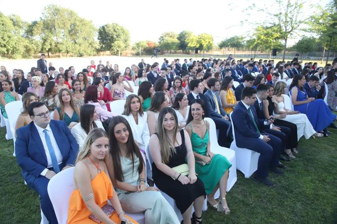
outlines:
{"label": "woman in long white dress seated beside woman in royal blue", "polygon": [[293,111],[285,108],[285,99],[282,94],[285,93],[287,84],[283,81],[276,82],[274,85],[274,95],[272,97],[275,103],[275,114],[286,114],[286,121],[296,124],[297,126],[297,140],[299,140],[303,135],[305,139],[309,139],[311,136],[322,137],[323,134],[317,133],[314,130],[313,125],[310,123],[305,114],[301,114],[299,111]]}

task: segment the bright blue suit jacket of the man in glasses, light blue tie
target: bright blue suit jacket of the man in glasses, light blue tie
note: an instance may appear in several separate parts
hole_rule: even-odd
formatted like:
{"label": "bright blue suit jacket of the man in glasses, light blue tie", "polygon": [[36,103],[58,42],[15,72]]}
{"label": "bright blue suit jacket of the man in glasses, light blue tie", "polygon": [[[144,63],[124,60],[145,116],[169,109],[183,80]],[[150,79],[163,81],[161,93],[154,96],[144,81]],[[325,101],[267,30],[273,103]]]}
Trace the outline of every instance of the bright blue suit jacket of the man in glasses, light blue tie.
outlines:
{"label": "bright blue suit jacket of the man in glasses, light blue tie", "polygon": [[[74,165],[78,144],[64,121],[51,120],[50,128],[63,156],[62,165]],[[34,122],[16,130],[16,161],[27,185],[33,182],[47,168],[47,157]]]}

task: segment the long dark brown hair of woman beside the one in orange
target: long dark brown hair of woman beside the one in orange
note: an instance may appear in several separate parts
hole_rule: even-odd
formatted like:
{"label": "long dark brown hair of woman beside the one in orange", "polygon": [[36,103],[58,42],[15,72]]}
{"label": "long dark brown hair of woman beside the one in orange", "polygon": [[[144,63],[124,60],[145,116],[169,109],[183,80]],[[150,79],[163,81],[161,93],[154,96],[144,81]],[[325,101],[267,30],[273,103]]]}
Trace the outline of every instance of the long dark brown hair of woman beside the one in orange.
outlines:
{"label": "long dark brown hair of woman beside the one in orange", "polygon": [[[119,123],[124,123],[129,132],[128,141],[125,143],[127,148],[126,156],[130,158],[132,162],[134,162],[135,157],[139,158],[139,166],[137,168],[138,174],[143,172],[143,166],[145,162],[143,161],[141,150],[139,150],[137,144],[134,142],[132,130],[128,121],[122,116],[113,117],[109,123],[109,153],[113,159],[112,164],[114,167],[115,180],[124,181],[121,164],[121,149],[118,146],[118,142],[114,132],[115,126]],[[133,171],[134,171],[134,163],[132,163],[132,173]]]}

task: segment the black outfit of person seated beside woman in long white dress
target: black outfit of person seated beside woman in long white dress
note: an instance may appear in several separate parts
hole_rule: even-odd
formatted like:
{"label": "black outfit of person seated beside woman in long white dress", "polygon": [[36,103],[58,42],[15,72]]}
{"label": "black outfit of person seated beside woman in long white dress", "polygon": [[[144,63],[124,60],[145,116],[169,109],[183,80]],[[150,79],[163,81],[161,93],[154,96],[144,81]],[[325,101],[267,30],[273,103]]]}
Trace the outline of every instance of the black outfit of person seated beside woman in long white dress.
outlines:
{"label": "black outfit of person seated beside woman in long white dress", "polygon": [[[271,101],[271,97],[267,97],[268,100],[268,113],[269,116],[273,115],[273,111],[275,110],[275,105],[274,103]],[[298,146],[298,141],[297,141],[297,126],[294,123],[291,123],[289,121],[286,120],[282,120],[282,119],[275,119],[274,121],[275,125],[280,125],[280,126],[285,126],[288,127],[290,129],[290,136],[288,137],[288,142],[286,145],[287,149],[292,149],[292,148],[297,148]]]}

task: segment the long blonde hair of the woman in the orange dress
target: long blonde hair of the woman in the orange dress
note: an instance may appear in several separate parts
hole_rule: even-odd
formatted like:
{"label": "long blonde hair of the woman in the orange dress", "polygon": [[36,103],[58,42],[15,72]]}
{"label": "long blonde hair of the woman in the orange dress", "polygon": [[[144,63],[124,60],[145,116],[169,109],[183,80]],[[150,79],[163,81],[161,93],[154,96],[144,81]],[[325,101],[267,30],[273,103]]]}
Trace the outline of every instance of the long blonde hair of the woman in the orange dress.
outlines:
{"label": "long blonde hair of the woman in the orange dress", "polygon": [[85,158],[89,154],[90,146],[93,144],[93,142],[96,141],[96,139],[99,139],[102,137],[107,138],[106,132],[103,129],[98,129],[97,127],[92,129],[88,133],[87,138],[85,142],[83,143],[82,148],[78,150],[75,164],[81,161],[83,158]]}

